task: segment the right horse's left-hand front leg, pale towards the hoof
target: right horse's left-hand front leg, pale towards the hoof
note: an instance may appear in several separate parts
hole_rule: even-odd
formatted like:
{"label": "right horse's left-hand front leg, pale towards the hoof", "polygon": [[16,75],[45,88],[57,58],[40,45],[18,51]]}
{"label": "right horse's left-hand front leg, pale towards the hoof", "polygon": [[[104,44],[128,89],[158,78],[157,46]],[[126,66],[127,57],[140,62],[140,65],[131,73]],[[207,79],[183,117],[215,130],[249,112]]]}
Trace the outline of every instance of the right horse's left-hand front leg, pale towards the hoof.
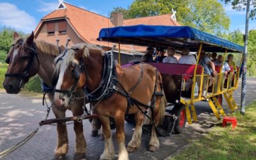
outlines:
{"label": "right horse's left-hand front leg, pale towards the hoof", "polygon": [[105,139],[104,152],[100,156],[100,159],[113,159],[115,157],[114,145],[111,137],[111,130],[109,125],[109,116],[103,116],[98,114],[98,118],[102,124],[102,130]]}

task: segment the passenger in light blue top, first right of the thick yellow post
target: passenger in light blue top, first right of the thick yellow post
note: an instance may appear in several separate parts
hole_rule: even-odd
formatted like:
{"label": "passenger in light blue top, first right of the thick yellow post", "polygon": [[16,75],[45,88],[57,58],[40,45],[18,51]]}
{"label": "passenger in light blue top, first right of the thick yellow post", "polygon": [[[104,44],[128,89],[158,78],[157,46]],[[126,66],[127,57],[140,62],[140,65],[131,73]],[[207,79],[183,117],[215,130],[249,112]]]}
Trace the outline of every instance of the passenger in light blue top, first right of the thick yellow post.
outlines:
{"label": "passenger in light blue top, first right of the thick yellow post", "polygon": [[209,75],[209,86],[212,86],[212,84],[214,83],[214,77],[216,76],[217,72],[215,70],[214,63],[211,61],[209,56],[205,54],[204,50],[201,51],[198,64],[204,67],[204,74]]}

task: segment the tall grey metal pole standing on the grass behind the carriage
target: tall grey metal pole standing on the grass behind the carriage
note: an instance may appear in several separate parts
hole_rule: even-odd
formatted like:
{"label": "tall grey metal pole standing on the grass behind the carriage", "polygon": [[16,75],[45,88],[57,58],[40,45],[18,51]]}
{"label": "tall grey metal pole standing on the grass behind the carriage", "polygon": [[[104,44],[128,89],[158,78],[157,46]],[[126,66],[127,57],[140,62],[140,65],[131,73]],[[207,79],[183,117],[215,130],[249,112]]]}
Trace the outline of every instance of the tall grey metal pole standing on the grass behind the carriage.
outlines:
{"label": "tall grey metal pole standing on the grass behind the carriage", "polygon": [[248,26],[249,26],[249,11],[250,0],[247,0],[246,4],[246,23],[245,23],[245,40],[244,40],[244,60],[243,60],[243,77],[241,87],[241,115],[244,115],[245,111],[245,97],[246,97],[246,55],[248,52]]}

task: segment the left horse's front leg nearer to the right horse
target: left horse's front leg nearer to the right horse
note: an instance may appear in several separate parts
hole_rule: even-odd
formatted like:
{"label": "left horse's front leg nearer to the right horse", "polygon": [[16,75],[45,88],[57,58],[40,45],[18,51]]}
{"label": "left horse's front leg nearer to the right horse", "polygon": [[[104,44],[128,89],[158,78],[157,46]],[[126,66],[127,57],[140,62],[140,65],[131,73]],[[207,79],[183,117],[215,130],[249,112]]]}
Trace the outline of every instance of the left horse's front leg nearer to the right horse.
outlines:
{"label": "left horse's front leg nearer to the right horse", "polygon": [[[80,116],[83,114],[83,108],[80,104],[72,106],[73,116]],[[76,132],[76,147],[74,159],[85,159],[86,141],[83,134],[83,122],[74,122],[74,131]]]}

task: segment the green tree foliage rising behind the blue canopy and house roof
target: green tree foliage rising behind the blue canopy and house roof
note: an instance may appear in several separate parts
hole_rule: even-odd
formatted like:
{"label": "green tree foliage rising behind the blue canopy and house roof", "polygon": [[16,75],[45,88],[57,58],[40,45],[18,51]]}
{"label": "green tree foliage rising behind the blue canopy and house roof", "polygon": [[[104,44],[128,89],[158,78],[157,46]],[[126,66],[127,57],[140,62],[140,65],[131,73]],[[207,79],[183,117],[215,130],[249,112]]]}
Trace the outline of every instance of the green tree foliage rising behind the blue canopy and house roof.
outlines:
{"label": "green tree foliage rising behind the blue canopy and house roof", "polygon": [[228,30],[230,19],[217,0],[135,0],[127,10],[114,8],[125,19],[163,15],[176,10],[177,20],[184,26],[191,26],[209,33]]}

